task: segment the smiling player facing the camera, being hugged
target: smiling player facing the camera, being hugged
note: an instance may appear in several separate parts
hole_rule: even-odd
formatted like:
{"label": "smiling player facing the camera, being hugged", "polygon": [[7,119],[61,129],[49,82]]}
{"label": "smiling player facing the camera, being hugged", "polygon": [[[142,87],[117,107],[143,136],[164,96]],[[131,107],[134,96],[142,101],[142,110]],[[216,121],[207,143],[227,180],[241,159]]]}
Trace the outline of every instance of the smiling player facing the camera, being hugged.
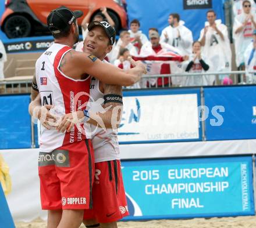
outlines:
{"label": "smiling player facing the camera, being hugged", "polygon": [[[115,42],[115,29],[106,21],[93,21],[88,25],[83,49],[84,52],[92,53],[105,61],[104,57],[112,50],[112,41]],[[122,86],[104,84],[97,78],[91,78],[90,97],[93,99],[91,102],[104,100],[104,108],[120,107],[120,111],[116,113],[118,116],[113,116],[115,120],[120,120],[123,105]],[[98,110],[97,106],[94,107],[95,113],[101,110],[101,107],[98,107]],[[66,122],[69,125],[68,121],[63,121],[61,125]],[[69,129],[72,126],[69,126]],[[91,130],[95,157],[93,209],[84,211],[84,224],[86,227],[115,228],[116,221],[129,215],[120,164],[118,131],[113,128],[102,129],[95,125],[91,125]]]}

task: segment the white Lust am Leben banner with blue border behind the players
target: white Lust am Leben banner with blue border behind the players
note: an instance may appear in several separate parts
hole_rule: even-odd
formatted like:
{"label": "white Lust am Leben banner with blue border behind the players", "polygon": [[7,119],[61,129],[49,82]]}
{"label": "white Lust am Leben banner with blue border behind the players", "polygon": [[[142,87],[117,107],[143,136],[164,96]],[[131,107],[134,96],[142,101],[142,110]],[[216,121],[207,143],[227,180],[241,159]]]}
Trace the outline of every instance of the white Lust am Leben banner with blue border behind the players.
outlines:
{"label": "white Lust am Leben banner with blue border behind the players", "polygon": [[119,143],[201,140],[200,89],[157,89],[123,93]]}

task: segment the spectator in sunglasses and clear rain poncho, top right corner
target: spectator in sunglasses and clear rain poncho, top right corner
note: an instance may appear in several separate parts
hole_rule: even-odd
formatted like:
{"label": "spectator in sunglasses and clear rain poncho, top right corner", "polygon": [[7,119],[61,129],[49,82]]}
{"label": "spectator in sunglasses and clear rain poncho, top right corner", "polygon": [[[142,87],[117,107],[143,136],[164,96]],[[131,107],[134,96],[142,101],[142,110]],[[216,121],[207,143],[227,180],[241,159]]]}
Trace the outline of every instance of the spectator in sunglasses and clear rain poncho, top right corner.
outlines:
{"label": "spectator in sunglasses and clear rain poncho, top right corner", "polygon": [[256,15],[251,13],[251,2],[243,1],[243,10],[234,18],[233,38],[236,50],[236,66],[244,70],[244,51],[253,38]]}

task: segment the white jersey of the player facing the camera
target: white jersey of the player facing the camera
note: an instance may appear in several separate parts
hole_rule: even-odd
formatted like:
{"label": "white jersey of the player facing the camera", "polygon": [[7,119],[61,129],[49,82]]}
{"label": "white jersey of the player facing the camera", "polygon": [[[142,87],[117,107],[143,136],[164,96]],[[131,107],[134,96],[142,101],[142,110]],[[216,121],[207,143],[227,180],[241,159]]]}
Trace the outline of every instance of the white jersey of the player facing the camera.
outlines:
{"label": "white jersey of the player facing the camera", "polygon": [[[104,93],[99,90],[99,80],[97,78],[91,78],[90,86],[90,102],[99,102],[98,99],[102,99],[99,104],[103,104]],[[94,105],[94,111],[97,110],[97,106]],[[99,108],[102,108],[99,106]],[[95,163],[102,161],[120,160],[120,151],[118,144],[118,131],[112,128],[102,129],[99,126],[91,125],[92,131],[92,143],[94,149]]]}

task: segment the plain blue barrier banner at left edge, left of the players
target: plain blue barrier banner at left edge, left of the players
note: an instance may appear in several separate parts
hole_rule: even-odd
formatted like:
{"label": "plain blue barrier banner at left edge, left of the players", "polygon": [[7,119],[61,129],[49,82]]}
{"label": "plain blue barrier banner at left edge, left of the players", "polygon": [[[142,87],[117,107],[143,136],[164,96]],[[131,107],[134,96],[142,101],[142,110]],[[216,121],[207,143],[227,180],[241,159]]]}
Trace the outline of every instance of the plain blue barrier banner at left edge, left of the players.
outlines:
{"label": "plain blue barrier banner at left edge, left of the players", "polygon": [[29,95],[0,96],[0,149],[31,147]]}

